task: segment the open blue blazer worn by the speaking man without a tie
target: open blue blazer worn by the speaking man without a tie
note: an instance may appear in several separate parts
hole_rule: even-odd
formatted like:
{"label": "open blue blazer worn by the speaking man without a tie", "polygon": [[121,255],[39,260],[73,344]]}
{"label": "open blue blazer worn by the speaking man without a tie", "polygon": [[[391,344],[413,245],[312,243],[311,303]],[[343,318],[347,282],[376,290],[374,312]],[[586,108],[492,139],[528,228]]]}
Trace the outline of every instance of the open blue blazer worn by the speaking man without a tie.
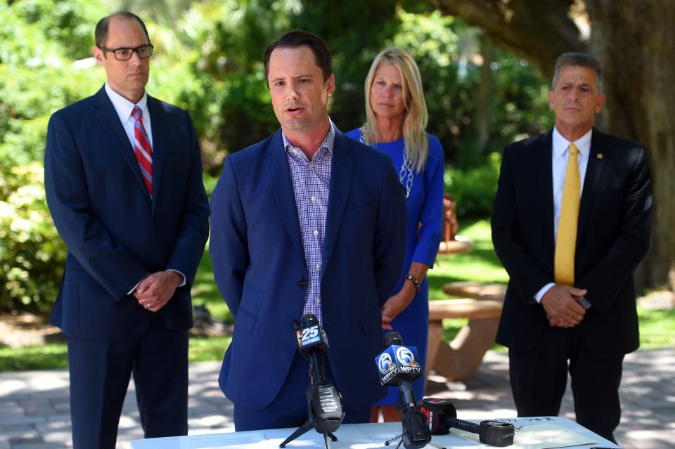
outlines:
{"label": "open blue blazer worn by the speaking man without a tie", "polygon": [[[214,278],[236,318],[219,383],[234,403],[274,399],[297,351],[307,269],[281,130],[226,158],[212,195]],[[401,273],[405,193],[390,157],[336,130],[321,309],[338,390],[354,409],[385,395],[380,308]]]}

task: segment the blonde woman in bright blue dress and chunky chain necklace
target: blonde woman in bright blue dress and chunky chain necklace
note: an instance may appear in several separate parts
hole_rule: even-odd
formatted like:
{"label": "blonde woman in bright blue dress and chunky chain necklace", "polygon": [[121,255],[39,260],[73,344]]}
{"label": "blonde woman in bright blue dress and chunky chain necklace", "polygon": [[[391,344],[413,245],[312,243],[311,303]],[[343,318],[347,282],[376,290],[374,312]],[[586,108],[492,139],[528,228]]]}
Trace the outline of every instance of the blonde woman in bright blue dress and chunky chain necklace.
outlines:
{"label": "blonde woman in bright blue dress and chunky chain necklace", "polygon": [[[373,61],[365,83],[366,123],[347,136],[371,145],[392,157],[399,181],[406,190],[408,235],[406,259],[399,284],[382,309],[382,327],[395,330],[404,343],[416,346],[424,366],[429,323],[429,285],[426,273],[433,265],[442,232],[443,148],[427,134],[428,113],[420,70],[409,53],[387,48]],[[424,379],[413,382],[416,397],[423,396]],[[397,389],[371,414],[385,421],[399,421]]]}

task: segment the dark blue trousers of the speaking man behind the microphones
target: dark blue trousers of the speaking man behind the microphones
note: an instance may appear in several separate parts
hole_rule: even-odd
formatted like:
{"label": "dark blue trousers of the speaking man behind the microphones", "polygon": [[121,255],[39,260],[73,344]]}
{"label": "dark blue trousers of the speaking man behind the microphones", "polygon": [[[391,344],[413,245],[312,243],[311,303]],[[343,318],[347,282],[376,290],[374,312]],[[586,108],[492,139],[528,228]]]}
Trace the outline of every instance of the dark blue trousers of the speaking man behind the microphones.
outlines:
{"label": "dark blue trousers of the speaking man behind the microphones", "polygon": [[[335,385],[328,360],[323,358],[326,382]],[[276,398],[262,410],[248,410],[245,404],[234,405],[234,428],[236,431],[283,429],[300,427],[307,421],[307,396],[309,387],[309,361],[296,353],[288,376]],[[342,424],[370,422],[371,408],[354,410],[345,403],[342,407],[345,419]]]}

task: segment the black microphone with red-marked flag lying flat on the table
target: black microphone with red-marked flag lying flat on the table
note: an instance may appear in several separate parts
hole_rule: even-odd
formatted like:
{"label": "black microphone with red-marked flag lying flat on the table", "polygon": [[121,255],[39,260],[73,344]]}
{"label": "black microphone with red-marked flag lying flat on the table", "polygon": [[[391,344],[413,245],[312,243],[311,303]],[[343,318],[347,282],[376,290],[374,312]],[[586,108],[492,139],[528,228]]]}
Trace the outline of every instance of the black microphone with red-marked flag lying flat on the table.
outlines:
{"label": "black microphone with red-marked flag lying flat on the table", "polygon": [[483,444],[499,448],[513,444],[515,434],[513,424],[494,420],[481,421],[480,424],[476,424],[457,419],[457,410],[447,399],[424,398],[422,403],[422,411],[427,417],[429,431],[432,435],[448,434],[452,427],[478,434],[478,439]]}

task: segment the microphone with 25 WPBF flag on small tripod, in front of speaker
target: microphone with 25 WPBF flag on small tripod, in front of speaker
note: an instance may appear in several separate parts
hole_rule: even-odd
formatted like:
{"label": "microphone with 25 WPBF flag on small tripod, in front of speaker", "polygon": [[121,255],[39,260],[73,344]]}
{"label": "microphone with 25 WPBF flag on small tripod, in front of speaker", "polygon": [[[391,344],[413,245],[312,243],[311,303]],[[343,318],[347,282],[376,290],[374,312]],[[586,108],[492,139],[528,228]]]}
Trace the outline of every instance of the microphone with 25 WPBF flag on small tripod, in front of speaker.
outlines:
{"label": "microphone with 25 WPBF flag on small tripod, in front of speaker", "polygon": [[296,331],[297,348],[300,353],[309,359],[309,379],[311,383],[307,389],[307,422],[298,427],[293,434],[279,445],[284,448],[290,441],[295,440],[309,429],[316,429],[323,434],[326,448],[330,449],[328,437],[333,441],[338,438],[333,432],[338,430],[345,412],[342,411],[342,397],[330,382],[326,382],[323,372],[323,354],[328,353],[328,336],[319,324],[316,315],[307,313],[300,318],[300,326]]}

